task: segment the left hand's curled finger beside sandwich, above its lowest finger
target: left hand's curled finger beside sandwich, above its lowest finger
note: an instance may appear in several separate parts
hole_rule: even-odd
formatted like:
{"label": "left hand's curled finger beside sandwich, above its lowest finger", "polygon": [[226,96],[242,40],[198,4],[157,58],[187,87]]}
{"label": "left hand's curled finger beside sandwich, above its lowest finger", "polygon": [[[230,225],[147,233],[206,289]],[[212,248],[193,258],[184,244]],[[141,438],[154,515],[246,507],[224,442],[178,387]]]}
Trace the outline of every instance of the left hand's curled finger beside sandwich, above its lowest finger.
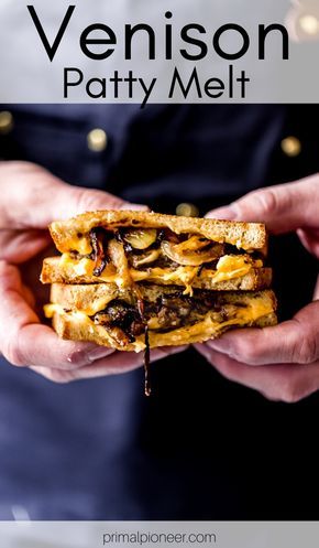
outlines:
{"label": "left hand's curled finger beside sandwich, above its lowest finger", "polygon": [[41,325],[23,292],[19,270],[0,262],[0,325],[6,326],[0,330],[0,348],[11,364],[72,369],[101,357],[99,346],[62,341],[51,327]]}

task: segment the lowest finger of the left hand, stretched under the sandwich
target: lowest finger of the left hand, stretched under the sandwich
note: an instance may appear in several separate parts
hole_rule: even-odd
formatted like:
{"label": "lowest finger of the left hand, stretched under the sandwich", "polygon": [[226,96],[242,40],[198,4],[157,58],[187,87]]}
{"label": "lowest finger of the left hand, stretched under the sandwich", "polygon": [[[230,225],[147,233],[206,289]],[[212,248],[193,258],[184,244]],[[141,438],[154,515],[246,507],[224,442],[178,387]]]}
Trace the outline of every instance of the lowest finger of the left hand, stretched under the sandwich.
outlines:
{"label": "lowest finger of the left hand, stretched under the sandwich", "polygon": [[[151,351],[151,362],[163,359],[172,354],[177,354],[187,348],[186,346],[170,346]],[[47,367],[31,367],[45,378],[55,383],[69,383],[72,380],[105,377],[108,375],[120,375],[141,367],[144,364],[144,353],[114,352],[110,357],[98,359],[90,365],[75,370],[53,369]]]}

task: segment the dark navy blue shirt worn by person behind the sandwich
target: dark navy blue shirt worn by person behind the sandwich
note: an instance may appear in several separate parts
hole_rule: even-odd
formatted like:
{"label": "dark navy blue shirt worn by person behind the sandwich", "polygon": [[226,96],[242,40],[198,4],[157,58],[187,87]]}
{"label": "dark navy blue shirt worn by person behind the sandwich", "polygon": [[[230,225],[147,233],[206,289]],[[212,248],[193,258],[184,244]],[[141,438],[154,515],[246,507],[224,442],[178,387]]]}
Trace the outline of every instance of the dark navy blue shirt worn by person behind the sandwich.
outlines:
{"label": "dark navy blue shirt worn by person behind the sandwich", "polygon": [[[205,214],[319,168],[317,107],[11,111],[2,159],[165,213],[190,202]],[[107,133],[103,151],[88,148],[94,128]],[[288,136],[301,142],[298,157],[282,150]],[[295,236],[277,238],[271,260],[280,318],[288,318],[311,299],[317,265]],[[319,487],[317,395],[293,407],[266,401],[221,378],[194,350],[153,365],[148,399],[142,370],[62,386],[0,365],[0,519],[12,519],[16,505],[32,519],[318,517],[307,498],[310,481]]]}

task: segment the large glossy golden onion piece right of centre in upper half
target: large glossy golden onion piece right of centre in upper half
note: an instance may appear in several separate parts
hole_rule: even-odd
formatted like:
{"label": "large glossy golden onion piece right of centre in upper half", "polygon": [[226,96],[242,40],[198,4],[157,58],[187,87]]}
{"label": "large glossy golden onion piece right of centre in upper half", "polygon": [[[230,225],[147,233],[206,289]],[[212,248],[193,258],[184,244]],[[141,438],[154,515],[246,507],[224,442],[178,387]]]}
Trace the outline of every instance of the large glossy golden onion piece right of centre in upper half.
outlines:
{"label": "large glossy golden onion piece right of centre in upper half", "polygon": [[223,245],[215,244],[200,236],[191,236],[182,244],[162,241],[161,248],[174,262],[178,265],[197,267],[205,262],[219,259],[223,254]]}

